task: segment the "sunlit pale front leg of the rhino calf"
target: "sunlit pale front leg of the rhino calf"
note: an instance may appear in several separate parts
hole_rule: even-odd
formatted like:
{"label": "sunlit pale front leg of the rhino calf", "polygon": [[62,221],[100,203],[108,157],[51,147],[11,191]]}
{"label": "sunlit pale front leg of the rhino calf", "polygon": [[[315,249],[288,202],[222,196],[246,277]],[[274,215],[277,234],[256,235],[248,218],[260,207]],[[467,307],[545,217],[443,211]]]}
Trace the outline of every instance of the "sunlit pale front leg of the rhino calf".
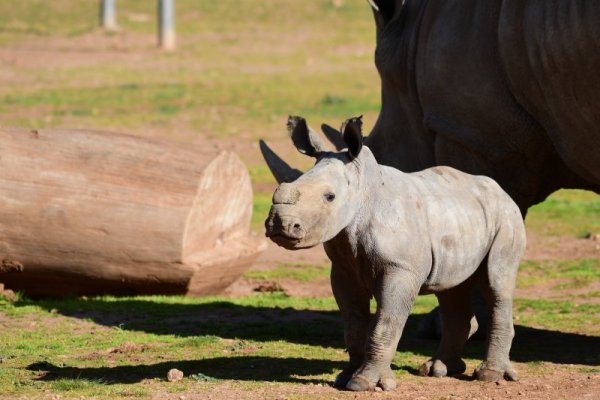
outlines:
{"label": "sunlit pale front leg of the rhino calf", "polygon": [[390,365],[421,284],[414,273],[406,269],[388,272],[379,279],[374,290],[377,312],[371,321],[365,360],[346,385],[347,389],[363,391],[379,385],[383,390],[393,390],[396,387]]}

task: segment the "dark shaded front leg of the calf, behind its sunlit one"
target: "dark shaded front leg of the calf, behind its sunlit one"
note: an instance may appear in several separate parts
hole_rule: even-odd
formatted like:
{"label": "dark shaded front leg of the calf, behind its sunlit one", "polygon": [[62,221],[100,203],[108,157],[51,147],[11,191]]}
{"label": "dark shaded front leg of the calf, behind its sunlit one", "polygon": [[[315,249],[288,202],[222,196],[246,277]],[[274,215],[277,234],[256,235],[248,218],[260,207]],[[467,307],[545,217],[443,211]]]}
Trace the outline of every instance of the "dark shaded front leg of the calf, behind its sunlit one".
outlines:
{"label": "dark shaded front leg of the calf, behind its sunlit one", "polygon": [[371,294],[358,279],[357,271],[342,262],[331,267],[331,288],[344,321],[344,340],[350,364],[338,374],[334,386],[345,387],[365,358]]}

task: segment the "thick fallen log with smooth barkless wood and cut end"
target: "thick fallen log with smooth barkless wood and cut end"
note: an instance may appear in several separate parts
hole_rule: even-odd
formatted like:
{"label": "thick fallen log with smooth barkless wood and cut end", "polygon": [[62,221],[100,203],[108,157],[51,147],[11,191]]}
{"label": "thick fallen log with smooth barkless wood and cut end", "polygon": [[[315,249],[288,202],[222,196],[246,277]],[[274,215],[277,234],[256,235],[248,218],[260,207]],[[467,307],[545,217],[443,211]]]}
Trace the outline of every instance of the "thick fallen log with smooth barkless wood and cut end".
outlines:
{"label": "thick fallen log with smooth barkless wood and cut end", "polygon": [[251,213],[235,154],[107,132],[0,129],[0,264],[19,266],[0,274],[9,289],[215,294],[264,249]]}

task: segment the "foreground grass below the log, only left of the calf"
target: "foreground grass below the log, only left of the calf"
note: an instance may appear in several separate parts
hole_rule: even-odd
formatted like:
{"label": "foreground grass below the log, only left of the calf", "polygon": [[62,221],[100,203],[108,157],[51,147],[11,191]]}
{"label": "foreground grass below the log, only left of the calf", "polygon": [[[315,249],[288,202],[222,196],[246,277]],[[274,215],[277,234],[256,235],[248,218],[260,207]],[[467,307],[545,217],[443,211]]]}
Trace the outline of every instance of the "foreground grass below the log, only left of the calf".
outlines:
{"label": "foreground grass below the log, only left of the calf", "polygon": [[[103,398],[127,392],[143,397],[149,390],[171,389],[165,382],[170,368],[188,376],[178,390],[224,380],[257,384],[267,373],[293,380],[292,364],[284,371],[273,366],[258,376],[247,364],[251,360],[268,367],[273,360],[287,363],[300,355],[317,364],[325,357],[343,359],[335,308],[332,299],[280,294],[235,300],[146,296],[3,301],[0,316],[12,323],[0,333],[0,392],[50,390]],[[324,322],[327,329],[317,329]],[[320,332],[309,335],[310,330]],[[333,373],[331,368],[312,368],[319,376]],[[131,386],[142,380],[150,387]]]}

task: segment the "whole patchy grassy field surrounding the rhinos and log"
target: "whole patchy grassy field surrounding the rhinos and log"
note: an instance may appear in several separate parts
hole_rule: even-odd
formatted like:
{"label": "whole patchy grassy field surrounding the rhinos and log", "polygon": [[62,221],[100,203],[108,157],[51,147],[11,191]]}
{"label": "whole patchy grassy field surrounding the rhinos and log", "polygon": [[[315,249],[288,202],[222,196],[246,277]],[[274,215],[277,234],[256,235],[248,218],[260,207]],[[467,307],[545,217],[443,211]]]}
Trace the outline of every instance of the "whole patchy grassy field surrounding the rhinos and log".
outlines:
{"label": "whole patchy grassy field surrounding the rhinos and log", "polygon": [[[97,29],[96,0],[0,2],[0,127],[218,141],[249,167],[260,230],[274,182],[258,138],[307,166],[287,143],[288,114],[315,126],[357,114],[366,127],[374,122],[379,81],[370,10],[362,0],[177,0],[179,47],[163,53],[155,49],[155,3],[119,1],[121,29],[107,33]],[[526,222],[548,243],[578,245],[600,233],[600,199],[559,191]],[[522,375],[561,382],[600,376],[599,270],[589,251],[523,262],[512,353]],[[311,285],[328,274],[327,265],[282,262],[245,279]],[[418,299],[394,360],[396,374],[416,391],[437,384],[414,375],[437,345],[415,338],[435,304],[432,296]],[[350,398],[327,386],[347,357],[336,310],[331,297],[278,291],[0,299],[0,398]],[[483,343],[469,343],[468,371],[482,356]],[[185,378],[167,382],[171,368]]]}

